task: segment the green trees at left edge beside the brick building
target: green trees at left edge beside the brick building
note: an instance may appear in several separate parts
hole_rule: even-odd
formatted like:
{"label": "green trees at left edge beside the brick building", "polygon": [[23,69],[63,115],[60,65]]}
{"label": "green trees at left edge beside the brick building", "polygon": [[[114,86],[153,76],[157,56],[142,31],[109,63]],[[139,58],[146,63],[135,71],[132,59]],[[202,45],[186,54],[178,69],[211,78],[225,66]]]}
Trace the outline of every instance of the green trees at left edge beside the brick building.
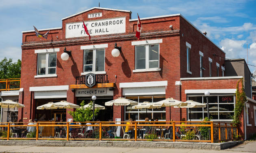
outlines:
{"label": "green trees at left edge beside the brick building", "polygon": [[7,60],[4,57],[0,61],[0,79],[20,78],[21,75],[21,60],[13,63],[13,59]]}

